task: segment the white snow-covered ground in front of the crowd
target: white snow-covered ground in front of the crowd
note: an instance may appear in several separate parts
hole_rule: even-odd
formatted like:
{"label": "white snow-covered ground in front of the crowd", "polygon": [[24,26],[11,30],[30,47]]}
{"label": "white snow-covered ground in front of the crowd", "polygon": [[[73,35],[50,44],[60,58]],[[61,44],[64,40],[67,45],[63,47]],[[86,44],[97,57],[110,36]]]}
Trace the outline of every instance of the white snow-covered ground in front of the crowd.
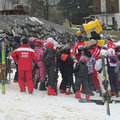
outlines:
{"label": "white snow-covered ground in front of the crowd", "polygon": [[[110,104],[111,115],[106,113],[106,105],[79,103],[75,95],[61,94],[48,96],[47,91],[34,90],[33,94],[19,91],[13,82],[15,70],[11,74],[11,84],[6,84],[6,94],[0,94],[0,120],[119,120],[120,104]],[[61,75],[58,78],[58,88]],[[1,86],[0,86],[0,89]],[[82,98],[85,95],[82,94]],[[102,99],[98,93],[92,99]],[[120,99],[113,97],[113,99]]]}

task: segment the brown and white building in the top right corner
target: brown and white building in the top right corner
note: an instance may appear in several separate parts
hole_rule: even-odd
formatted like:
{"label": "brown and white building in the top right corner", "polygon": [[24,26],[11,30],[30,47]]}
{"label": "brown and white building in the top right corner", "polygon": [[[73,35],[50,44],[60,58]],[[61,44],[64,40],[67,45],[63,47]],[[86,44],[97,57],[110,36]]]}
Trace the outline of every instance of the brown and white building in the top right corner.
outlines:
{"label": "brown and white building in the top right corner", "polygon": [[112,26],[115,30],[120,28],[120,0],[93,0],[94,14],[84,18],[85,22],[91,17],[99,18],[102,26]]}

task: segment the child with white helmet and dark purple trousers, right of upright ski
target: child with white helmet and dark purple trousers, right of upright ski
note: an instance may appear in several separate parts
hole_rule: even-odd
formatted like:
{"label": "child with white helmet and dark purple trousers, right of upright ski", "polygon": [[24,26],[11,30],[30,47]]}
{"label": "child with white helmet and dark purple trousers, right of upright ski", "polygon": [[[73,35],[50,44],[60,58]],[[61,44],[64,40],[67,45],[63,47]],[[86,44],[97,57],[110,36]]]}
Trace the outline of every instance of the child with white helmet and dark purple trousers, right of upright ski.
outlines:
{"label": "child with white helmet and dark purple trousers, right of upright ski", "polygon": [[111,93],[112,96],[116,95],[116,97],[119,97],[119,88],[118,88],[118,78],[117,74],[115,73],[115,67],[117,64],[117,58],[115,55],[114,49],[108,49],[108,74],[109,74],[109,81],[111,86]]}

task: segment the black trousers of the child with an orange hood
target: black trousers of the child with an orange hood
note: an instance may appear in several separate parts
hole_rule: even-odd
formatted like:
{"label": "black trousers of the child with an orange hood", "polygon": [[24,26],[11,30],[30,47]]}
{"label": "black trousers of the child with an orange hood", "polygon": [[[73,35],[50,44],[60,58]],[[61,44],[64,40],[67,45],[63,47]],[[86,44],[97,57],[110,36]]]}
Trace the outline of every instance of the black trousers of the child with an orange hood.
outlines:
{"label": "black trousers of the child with an orange hood", "polygon": [[73,86],[73,75],[66,75],[66,74],[62,74],[62,82],[60,85],[60,89],[61,90],[66,90],[66,88],[70,88],[71,86]]}

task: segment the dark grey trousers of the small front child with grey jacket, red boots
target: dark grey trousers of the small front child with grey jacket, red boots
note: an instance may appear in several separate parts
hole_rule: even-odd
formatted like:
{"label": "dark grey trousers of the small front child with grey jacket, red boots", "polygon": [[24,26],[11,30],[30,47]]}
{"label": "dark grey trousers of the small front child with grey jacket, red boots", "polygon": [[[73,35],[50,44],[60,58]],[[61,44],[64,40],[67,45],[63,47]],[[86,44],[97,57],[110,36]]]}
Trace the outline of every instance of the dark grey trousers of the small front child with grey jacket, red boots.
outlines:
{"label": "dark grey trousers of the small front child with grey jacket, red boots", "polygon": [[77,77],[75,77],[75,84],[74,84],[75,92],[78,91],[78,90],[80,90],[79,85],[81,83],[83,84],[83,89],[85,90],[85,93],[86,94],[90,94],[90,88],[88,87],[88,81],[87,81],[87,79],[77,78]]}

